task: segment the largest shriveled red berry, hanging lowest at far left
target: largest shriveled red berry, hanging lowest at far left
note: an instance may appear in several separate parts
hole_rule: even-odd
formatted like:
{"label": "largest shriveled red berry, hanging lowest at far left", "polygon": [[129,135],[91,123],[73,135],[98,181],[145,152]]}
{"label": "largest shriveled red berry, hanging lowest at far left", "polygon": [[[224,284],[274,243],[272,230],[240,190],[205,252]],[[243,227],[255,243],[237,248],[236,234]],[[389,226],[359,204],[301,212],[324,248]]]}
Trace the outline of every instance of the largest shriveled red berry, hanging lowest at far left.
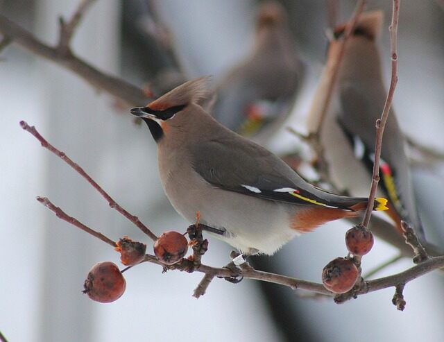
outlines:
{"label": "largest shriveled red berry, hanging lowest at far left", "polygon": [[112,262],[99,262],[89,270],[83,293],[96,302],[114,302],[123,295],[126,281],[119,267]]}

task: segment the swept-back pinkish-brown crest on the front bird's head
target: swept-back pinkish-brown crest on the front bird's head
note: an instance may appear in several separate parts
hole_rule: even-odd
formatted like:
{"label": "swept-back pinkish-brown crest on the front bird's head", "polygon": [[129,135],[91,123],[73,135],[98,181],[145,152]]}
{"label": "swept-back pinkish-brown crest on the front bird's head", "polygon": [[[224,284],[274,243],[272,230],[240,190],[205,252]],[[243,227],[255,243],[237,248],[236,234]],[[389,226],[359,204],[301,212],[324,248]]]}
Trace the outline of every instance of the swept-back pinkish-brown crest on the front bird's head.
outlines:
{"label": "swept-back pinkish-brown crest on the front bird's head", "polygon": [[202,99],[206,99],[211,95],[208,82],[211,76],[203,76],[189,80],[179,85],[167,94],[160,96],[159,99],[148,103],[147,107],[151,110],[167,110],[178,105],[188,105],[189,103],[198,103]]}

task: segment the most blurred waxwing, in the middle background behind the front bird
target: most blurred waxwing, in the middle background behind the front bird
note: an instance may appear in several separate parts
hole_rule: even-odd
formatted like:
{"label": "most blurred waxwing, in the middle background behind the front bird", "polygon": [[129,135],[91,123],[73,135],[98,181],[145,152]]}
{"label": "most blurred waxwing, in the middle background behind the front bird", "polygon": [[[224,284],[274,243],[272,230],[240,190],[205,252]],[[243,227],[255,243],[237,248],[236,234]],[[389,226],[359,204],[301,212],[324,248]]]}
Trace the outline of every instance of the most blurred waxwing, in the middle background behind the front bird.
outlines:
{"label": "most blurred waxwing, in the middle background behind the front bird", "polygon": [[304,68],[296,51],[284,8],[267,1],[257,13],[253,51],[216,85],[214,118],[241,135],[269,137],[284,123],[301,85]]}

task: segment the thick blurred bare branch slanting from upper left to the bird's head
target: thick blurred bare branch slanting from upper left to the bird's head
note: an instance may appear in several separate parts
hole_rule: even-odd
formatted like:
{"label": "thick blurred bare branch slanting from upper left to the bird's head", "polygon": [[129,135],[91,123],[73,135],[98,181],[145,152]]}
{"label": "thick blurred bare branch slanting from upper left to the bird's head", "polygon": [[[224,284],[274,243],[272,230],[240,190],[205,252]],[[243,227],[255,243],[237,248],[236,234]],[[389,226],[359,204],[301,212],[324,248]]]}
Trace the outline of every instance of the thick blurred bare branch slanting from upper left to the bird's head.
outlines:
{"label": "thick blurred bare branch slanting from upper left to the bird's head", "polygon": [[0,32],[28,51],[73,71],[93,87],[108,92],[128,105],[141,105],[149,100],[141,88],[131,85],[121,78],[99,71],[71,51],[60,55],[57,48],[37,40],[32,33],[11,22],[4,15],[0,15]]}

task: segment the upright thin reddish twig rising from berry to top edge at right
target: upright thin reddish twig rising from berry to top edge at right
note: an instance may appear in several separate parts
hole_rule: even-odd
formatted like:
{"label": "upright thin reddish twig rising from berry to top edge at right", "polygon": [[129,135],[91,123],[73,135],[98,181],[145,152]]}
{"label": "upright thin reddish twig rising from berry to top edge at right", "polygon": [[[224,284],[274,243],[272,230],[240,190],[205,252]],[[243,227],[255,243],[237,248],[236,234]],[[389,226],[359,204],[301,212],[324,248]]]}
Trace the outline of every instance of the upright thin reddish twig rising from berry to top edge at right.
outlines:
{"label": "upright thin reddish twig rising from berry to top edge at right", "polygon": [[400,3],[399,0],[393,0],[393,11],[391,17],[391,24],[388,28],[390,32],[390,55],[391,55],[391,80],[390,88],[386,102],[384,103],[384,110],[382,110],[381,119],[376,121],[376,142],[375,142],[375,160],[373,161],[373,176],[372,185],[370,187],[370,195],[368,196],[368,205],[364,219],[362,219],[362,225],[368,226],[370,216],[373,211],[373,205],[375,203],[376,189],[379,182],[379,160],[381,158],[382,137],[384,135],[384,128],[390,112],[391,103],[393,100],[393,94],[395,93],[396,83],[398,83],[398,19],[400,15]]}

